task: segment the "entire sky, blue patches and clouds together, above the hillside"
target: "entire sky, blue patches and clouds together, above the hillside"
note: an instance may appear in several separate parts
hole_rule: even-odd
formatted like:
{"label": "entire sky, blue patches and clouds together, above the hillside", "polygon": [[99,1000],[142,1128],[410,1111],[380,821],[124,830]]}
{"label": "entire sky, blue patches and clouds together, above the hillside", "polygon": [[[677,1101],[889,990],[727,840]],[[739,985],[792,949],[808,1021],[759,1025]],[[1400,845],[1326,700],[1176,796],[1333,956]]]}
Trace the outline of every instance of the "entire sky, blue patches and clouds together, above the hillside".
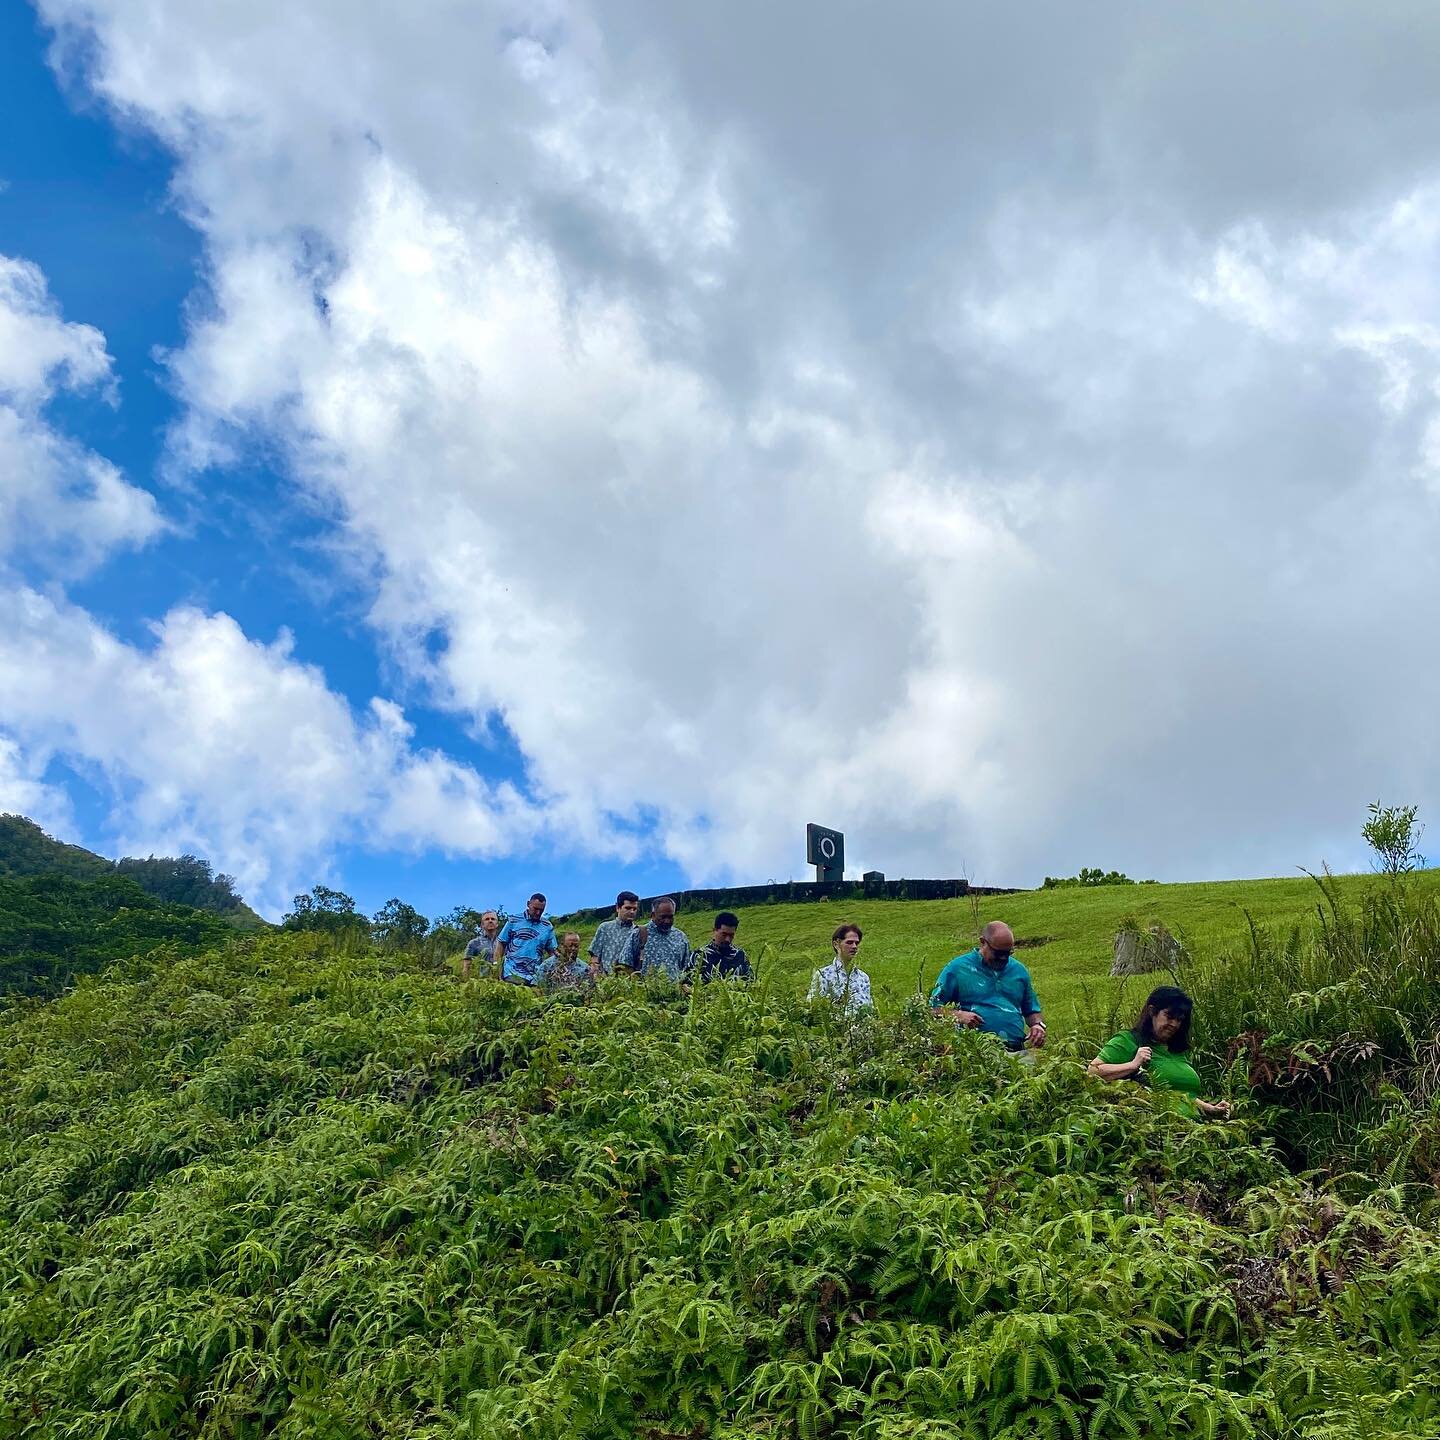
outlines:
{"label": "entire sky, blue patches and clouds together, above the hillside", "polygon": [[1433,811],[1430,12],[36,0],[0,84],[0,806],[268,914]]}

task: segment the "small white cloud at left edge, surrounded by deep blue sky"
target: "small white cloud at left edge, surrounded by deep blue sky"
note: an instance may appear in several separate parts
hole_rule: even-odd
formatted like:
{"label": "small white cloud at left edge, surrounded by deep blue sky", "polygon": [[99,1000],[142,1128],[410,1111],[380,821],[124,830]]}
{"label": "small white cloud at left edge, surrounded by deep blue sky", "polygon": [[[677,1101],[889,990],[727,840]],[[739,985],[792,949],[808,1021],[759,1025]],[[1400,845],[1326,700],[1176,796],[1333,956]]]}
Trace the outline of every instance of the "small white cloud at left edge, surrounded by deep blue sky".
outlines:
{"label": "small white cloud at left edge, surrounded by deep blue sky", "polygon": [[86,389],[114,392],[105,337],[60,318],[39,266],[0,255],[0,559],[88,566],[163,528],[148,491],[48,422],[59,390]]}

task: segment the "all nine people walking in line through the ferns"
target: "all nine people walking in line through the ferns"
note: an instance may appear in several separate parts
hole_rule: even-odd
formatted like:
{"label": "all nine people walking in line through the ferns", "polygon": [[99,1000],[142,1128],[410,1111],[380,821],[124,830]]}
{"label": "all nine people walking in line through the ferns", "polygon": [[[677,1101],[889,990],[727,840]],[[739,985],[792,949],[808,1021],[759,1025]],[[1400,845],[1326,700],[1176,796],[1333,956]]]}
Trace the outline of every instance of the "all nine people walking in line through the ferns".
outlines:
{"label": "all nine people walking in line through the ferns", "polygon": [[[462,978],[469,978],[477,960],[511,984],[547,988],[580,985],[603,975],[664,975],[680,985],[749,981],[755,975],[749,956],[734,943],[740,922],[729,910],[716,916],[710,939],[693,949],[675,924],[670,896],[652,901],[649,920],[639,924],[639,897],[622,890],[615,897],[613,917],[600,922],[582,956],[579,932],[566,930],[557,937],[544,919],[544,904],[543,894],[533,894],[526,913],[503,926],[500,916],[487,910],[480,935],[465,946]],[[835,927],[834,959],[811,976],[811,999],[828,999],[845,1015],[874,1004],[870,976],[858,963],[864,937],[858,924]],[[930,1008],[966,1030],[995,1035],[1020,1058],[1032,1058],[1045,1044],[1040,998],[1030,971],[1015,959],[1015,936],[1002,920],[986,924],[975,949],[955,956],[940,971],[930,989]],[[1172,985],[1152,991],[1136,1022],[1106,1041],[1090,1061],[1090,1073],[1169,1092],[1194,1116],[1228,1116],[1225,1102],[1201,1099],[1200,1074],[1187,1058],[1192,1012],[1184,991]]]}

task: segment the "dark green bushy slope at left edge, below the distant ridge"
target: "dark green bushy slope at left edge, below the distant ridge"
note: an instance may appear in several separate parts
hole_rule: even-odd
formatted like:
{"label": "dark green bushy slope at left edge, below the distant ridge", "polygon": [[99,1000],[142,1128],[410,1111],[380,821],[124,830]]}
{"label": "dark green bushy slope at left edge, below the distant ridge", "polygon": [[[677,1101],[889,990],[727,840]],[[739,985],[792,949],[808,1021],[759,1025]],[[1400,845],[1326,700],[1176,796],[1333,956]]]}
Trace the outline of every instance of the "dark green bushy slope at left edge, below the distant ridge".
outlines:
{"label": "dark green bushy slope at left edge, below the distant ridge", "polygon": [[0,995],[55,995],[117,960],[161,946],[194,953],[233,933],[217,916],[164,904],[115,874],[0,880]]}

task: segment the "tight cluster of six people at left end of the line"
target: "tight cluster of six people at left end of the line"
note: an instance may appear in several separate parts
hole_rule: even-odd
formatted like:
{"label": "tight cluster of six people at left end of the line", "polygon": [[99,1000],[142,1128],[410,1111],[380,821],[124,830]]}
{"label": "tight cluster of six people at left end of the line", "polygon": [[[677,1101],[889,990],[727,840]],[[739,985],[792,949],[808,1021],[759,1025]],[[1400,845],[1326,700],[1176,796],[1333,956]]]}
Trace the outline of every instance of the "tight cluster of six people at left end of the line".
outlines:
{"label": "tight cluster of six people at left end of the line", "polygon": [[675,901],[661,896],[651,903],[649,920],[636,923],[639,896],[622,890],[615,897],[615,914],[602,920],[580,955],[580,935],[566,930],[556,936],[544,919],[544,896],[526,901],[526,913],[503,926],[494,910],[480,917],[480,935],[465,946],[461,976],[469,978],[478,960],[514,985],[580,985],[602,975],[664,975],[678,985],[693,981],[752,979],[750,958],[734,943],[740,920],[729,910],[716,916],[710,939],[693,949],[690,937],[675,924]]}

